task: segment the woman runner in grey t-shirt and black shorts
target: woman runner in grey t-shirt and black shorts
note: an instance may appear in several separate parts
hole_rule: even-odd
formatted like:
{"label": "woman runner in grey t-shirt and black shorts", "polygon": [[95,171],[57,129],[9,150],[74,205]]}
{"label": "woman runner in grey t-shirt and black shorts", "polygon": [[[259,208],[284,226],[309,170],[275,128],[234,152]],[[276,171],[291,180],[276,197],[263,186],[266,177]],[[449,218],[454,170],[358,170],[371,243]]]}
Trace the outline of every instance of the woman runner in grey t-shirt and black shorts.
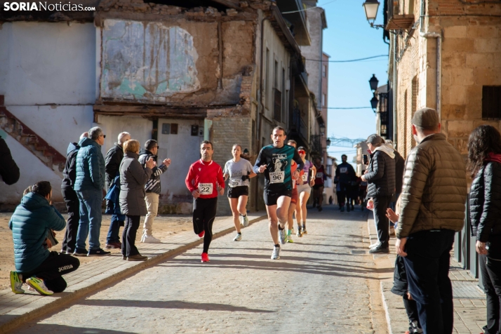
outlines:
{"label": "woman runner in grey t-shirt and black shorts", "polygon": [[252,164],[241,157],[242,147],[238,144],[232,148],[233,159],[228,160],[225,169],[222,171],[225,180],[229,178],[228,200],[232,208],[233,223],[236,229],[236,236],[233,241],[240,241],[242,234],[240,231],[239,215],[241,216],[243,227],[249,225],[247,217],[247,198],[249,194],[249,179],[255,177]]}

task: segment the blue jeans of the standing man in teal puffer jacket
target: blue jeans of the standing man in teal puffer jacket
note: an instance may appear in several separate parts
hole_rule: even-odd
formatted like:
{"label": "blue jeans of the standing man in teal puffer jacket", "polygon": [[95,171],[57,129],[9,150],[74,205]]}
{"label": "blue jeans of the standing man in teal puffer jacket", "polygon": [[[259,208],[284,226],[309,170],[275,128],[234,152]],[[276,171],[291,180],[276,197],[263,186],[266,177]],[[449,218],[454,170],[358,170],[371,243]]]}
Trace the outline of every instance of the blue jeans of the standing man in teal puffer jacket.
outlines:
{"label": "blue jeans of the standing man in teal puffer jacket", "polygon": [[76,234],[76,248],[86,249],[85,241],[88,238],[88,246],[90,249],[99,249],[99,234],[102,220],[102,190],[89,189],[76,192],[80,201],[80,222],[79,232]]}

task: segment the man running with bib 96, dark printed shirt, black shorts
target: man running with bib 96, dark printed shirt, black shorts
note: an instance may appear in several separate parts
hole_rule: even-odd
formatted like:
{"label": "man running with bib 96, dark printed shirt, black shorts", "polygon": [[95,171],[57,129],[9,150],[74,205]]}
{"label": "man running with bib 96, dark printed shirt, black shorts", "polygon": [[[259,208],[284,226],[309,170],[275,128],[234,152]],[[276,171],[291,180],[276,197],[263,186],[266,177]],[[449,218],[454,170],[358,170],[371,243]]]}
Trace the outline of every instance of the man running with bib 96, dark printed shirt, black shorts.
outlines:
{"label": "man running with bib 96, dark printed shirt, black shorts", "polygon": [[[290,166],[294,160],[301,170],[304,163],[298,151],[289,145],[284,145],[286,131],[277,126],[272,133],[273,145],[265,146],[259,152],[254,164],[255,173],[265,174],[265,204],[269,220],[269,232],[274,243],[272,260],[280,258],[280,243],[287,242],[285,225],[287,224],[290,197],[293,191],[293,175]],[[298,178],[299,172],[294,172]],[[278,236],[277,234],[280,234]],[[280,239],[280,243],[279,243]]]}

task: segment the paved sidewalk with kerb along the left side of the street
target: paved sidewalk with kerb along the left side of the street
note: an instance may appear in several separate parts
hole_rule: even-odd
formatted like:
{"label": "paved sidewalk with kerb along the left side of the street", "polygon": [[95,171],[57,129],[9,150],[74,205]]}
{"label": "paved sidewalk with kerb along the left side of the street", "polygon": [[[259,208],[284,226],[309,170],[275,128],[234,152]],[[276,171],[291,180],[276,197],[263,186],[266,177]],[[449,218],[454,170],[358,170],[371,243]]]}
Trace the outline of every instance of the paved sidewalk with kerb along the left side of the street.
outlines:
{"label": "paved sidewalk with kerb along the left side of the street", "polygon": [[[251,224],[266,217],[264,213],[249,213]],[[223,217],[214,222],[214,238],[233,231],[234,225],[231,217]],[[88,262],[81,265],[76,272],[64,276],[68,282],[68,288],[64,293],[41,296],[25,289],[24,294],[15,295],[10,288],[0,290],[0,333],[7,333],[16,326],[43,313],[54,311],[67,302],[81,298],[94,290],[203,243],[203,239],[200,239],[192,231],[176,234],[163,243],[140,243],[138,241],[136,241],[136,246],[142,255],[149,257],[147,261],[124,261],[121,255],[115,254]]]}

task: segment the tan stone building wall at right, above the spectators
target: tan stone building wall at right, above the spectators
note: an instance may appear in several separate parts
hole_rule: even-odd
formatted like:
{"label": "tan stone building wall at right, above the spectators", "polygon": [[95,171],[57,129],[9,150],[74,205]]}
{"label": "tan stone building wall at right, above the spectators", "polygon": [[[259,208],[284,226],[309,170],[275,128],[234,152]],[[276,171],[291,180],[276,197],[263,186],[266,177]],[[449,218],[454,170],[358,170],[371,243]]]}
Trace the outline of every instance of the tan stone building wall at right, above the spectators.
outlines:
{"label": "tan stone building wall at right, above the spectators", "polygon": [[[501,85],[501,4],[461,4],[456,0],[427,1],[426,32],[442,36],[441,124],[462,154],[469,133],[480,124],[501,128],[500,119],[482,118],[482,86]],[[419,17],[420,1],[414,2]],[[399,37],[402,50],[406,34]],[[415,146],[410,119],[416,109],[436,108],[436,39],[408,40],[398,63],[397,149],[407,155]]]}

